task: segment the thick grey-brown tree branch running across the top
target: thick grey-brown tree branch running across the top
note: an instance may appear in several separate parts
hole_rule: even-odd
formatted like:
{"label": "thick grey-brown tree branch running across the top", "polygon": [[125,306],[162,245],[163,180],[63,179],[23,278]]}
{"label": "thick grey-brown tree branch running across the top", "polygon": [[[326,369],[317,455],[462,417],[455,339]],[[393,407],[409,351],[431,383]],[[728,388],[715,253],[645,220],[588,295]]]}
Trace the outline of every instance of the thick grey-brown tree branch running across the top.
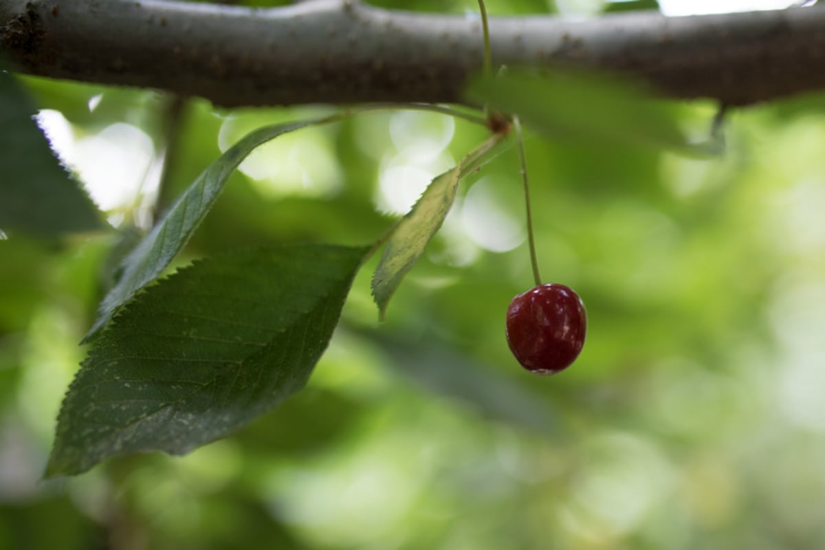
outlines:
{"label": "thick grey-brown tree branch running across the top", "polygon": [[[629,73],[678,98],[747,105],[825,89],[825,9],[490,20],[495,66]],[[462,101],[481,21],[355,0],[256,9],[161,0],[0,0],[0,55],[26,73],[203,96],[220,106]]]}

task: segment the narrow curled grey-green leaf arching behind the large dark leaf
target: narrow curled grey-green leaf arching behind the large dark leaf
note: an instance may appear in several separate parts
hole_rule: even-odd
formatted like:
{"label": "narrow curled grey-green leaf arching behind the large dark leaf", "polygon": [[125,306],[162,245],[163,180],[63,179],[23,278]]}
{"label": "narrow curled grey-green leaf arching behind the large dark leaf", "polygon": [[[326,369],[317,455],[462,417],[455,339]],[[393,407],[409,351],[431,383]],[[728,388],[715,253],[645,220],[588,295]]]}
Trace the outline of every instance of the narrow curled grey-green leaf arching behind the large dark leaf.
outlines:
{"label": "narrow curled grey-green leaf arching behind the large dark leaf", "polygon": [[84,341],[91,341],[119,308],[161,275],[218,200],[229,176],[254,148],[281,134],[339,118],[340,115],[332,115],[318,120],[265,126],[247,134],[210,164],[172,204],[163,219],[124,258],[121,264],[123,274],[103,299],[97,320]]}

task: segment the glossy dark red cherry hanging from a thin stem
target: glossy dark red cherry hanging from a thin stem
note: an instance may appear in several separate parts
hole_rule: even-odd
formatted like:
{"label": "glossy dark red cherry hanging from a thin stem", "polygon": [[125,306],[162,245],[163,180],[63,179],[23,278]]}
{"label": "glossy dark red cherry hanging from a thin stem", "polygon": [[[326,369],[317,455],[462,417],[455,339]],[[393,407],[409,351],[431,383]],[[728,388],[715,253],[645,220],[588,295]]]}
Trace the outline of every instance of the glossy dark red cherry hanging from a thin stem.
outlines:
{"label": "glossy dark red cherry hanging from a thin stem", "polygon": [[586,331],[584,303],[563,284],[540,284],[518,294],[507,308],[507,344],[535,374],[567,369],[582,351]]}

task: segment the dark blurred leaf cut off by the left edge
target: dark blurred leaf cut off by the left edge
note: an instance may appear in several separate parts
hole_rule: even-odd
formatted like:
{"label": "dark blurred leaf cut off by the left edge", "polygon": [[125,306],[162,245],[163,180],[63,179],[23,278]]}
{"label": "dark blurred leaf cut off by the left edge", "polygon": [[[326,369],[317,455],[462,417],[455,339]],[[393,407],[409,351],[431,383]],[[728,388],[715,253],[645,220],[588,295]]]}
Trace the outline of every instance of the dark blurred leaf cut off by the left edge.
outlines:
{"label": "dark blurred leaf cut off by the left edge", "polygon": [[104,227],[97,208],[54,157],[36,112],[0,67],[0,229],[52,237]]}

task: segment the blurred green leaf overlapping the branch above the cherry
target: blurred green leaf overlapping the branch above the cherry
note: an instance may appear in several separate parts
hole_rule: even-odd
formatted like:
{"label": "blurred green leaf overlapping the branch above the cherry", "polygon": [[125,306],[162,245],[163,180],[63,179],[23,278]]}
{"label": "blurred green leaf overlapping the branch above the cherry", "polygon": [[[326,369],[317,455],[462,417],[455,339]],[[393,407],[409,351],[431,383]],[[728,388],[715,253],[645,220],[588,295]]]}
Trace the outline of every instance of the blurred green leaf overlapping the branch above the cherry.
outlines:
{"label": "blurred green leaf overlapping the branch above the cherry", "polygon": [[555,70],[511,70],[496,78],[472,78],[470,101],[488,104],[552,139],[599,146],[634,143],[697,153],[675,117],[642,87],[620,78]]}

